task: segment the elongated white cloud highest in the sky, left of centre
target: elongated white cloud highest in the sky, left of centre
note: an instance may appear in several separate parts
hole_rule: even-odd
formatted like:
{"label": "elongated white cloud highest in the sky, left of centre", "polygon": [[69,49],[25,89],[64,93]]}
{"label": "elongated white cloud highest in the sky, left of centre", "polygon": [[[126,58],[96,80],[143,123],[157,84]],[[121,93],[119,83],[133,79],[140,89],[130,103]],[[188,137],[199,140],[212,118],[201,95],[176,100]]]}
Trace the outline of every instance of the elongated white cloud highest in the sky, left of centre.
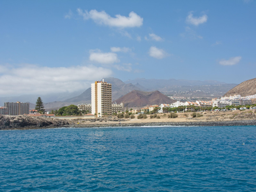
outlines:
{"label": "elongated white cloud highest in the sky, left of centre", "polygon": [[77,12],[84,20],[92,19],[95,23],[110,27],[140,27],[143,24],[143,18],[135,12],[130,12],[128,17],[118,14],[115,15],[115,18],[108,15],[105,11],[98,12],[97,10],[91,10],[89,12],[83,12],[83,10],[77,9]]}

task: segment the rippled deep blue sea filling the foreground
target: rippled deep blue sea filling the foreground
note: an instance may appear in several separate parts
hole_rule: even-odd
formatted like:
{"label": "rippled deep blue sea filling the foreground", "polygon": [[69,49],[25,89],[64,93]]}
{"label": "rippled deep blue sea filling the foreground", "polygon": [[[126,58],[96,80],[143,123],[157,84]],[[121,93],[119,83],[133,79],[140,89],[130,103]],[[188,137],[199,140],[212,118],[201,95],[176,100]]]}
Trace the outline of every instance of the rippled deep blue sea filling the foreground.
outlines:
{"label": "rippled deep blue sea filling the foreground", "polygon": [[256,126],[0,131],[0,191],[256,191]]}

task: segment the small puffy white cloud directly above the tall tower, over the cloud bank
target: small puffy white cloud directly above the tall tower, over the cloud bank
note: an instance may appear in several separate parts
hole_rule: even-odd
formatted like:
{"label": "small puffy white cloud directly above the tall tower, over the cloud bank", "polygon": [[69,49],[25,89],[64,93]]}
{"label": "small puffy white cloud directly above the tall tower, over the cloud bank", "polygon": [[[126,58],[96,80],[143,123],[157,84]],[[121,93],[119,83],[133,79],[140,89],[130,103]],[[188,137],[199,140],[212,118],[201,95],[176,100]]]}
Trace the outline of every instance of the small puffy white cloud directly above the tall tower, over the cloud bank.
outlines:
{"label": "small puffy white cloud directly above the tall tower, over the cloud bank", "polygon": [[120,60],[117,58],[116,53],[108,52],[94,52],[95,50],[90,51],[90,61],[94,61],[101,64],[113,64],[118,63]]}

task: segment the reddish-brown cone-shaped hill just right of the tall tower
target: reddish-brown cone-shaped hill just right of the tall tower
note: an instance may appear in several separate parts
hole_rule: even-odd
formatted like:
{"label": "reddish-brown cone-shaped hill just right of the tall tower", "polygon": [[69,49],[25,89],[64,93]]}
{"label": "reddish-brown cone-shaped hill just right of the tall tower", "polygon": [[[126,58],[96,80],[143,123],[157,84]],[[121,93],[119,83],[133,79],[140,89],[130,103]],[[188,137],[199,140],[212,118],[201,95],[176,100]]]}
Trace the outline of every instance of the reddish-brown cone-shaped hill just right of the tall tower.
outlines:
{"label": "reddish-brown cone-shaped hill just right of the tall tower", "polygon": [[125,107],[143,107],[147,105],[159,105],[161,103],[171,104],[175,101],[159,91],[143,92],[133,90],[113,102],[124,103]]}

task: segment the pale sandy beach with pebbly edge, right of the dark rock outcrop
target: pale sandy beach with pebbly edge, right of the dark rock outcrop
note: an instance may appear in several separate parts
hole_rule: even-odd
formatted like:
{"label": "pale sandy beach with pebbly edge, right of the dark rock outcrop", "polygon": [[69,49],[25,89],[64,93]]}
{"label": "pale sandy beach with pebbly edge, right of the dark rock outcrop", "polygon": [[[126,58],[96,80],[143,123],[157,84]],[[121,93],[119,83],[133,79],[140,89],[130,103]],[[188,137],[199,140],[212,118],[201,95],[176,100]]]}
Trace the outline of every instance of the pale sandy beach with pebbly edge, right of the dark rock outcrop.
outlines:
{"label": "pale sandy beach with pebbly edge, right of the dark rock outcrop", "polygon": [[[198,112],[203,114],[202,117],[192,117],[192,112],[178,113],[177,118],[168,118],[168,114],[157,114],[160,118],[150,118],[147,115],[146,119],[138,119],[135,115],[133,119],[120,119],[120,121],[112,121],[110,118],[105,118],[102,122],[84,121],[84,119],[72,120],[72,126],[76,127],[99,127],[99,126],[143,126],[143,125],[256,125],[256,110],[236,110],[236,111],[217,111],[217,112]],[[104,118],[103,118],[104,119]],[[238,123],[240,122],[240,123]],[[71,124],[70,124],[71,125]]]}

